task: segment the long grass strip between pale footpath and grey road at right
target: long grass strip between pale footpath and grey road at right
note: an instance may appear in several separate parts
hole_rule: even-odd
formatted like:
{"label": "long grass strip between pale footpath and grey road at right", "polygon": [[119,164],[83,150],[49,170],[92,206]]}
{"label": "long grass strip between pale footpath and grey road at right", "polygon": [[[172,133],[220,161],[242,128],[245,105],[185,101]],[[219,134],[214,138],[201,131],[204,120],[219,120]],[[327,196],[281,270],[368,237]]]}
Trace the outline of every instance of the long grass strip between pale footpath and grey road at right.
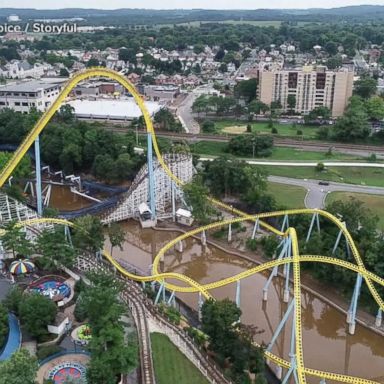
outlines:
{"label": "long grass strip between pale footpath and grey road at right", "polygon": [[268,174],[295,177],[298,179],[317,179],[341,183],[372,185],[384,187],[384,168],[369,167],[329,167],[325,172],[316,172],[315,167],[289,167],[262,165]]}

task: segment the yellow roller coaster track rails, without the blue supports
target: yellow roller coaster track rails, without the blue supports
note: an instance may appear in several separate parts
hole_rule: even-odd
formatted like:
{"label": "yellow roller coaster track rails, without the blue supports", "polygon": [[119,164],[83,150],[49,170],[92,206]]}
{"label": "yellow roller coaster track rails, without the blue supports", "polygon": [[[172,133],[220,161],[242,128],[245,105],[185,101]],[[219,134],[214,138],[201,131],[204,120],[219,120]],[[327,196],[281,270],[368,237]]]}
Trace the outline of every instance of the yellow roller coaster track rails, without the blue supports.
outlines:
{"label": "yellow roller coaster track rails, without the blue supports", "polygon": [[[136,91],[135,87],[121,74],[118,72],[115,72],[113,70],[109,70],[106,68],[90,68],[88,70],[85,70],[83,72],[79,72],[75,74],[65,85],[64,89],[61,91],[55,102],[49,107],[49,109],[41,116],[39,121],[36,123],[35,127],[29,132],[27,137],[24,139],[23,143],[20,145],[20,147],[14,152],[13,157],[10,159],[8,164],[1,170],[0,173],[0,187],[4,185],[6,180],[9,178],[9,176],[14,171],[15,167],[18,165],[18,163],[21,161],[23,156],[26,154],[28,149],[32,146],[36,138],[39,136],[39,134],[43,131],[43,129],[46,127],[50,119],[53,117],[55,112],[59,109],[62,102],[66,99],[66,97],[69,95],[71,90],[81,81],[93,78],[93,77],[107,77],[112,80],[115,80],[119,82],[122,86],[124,86],[129,93],[132,94],[135,101],[137,102],[143,117],[144,121],[147,127],[147,132],[151,134],[152,136],[152,143],[153,148],[155,150],[157,159],[164,169],[164,171],[167,173],[167,175],[179,186],[182,186],[183,182],[179,180],[168,168],[167,164],[165,163],[161,152],[159,150],[155,131],[153,128],[152,120],[150,117],[149,112],[147,111],[144,101],[141,98],[140,94]],[[381,286],[384,286],[384,279],[380,278],[379,276],[376,276],[375,274],[367,271],[365,269],[364,263],[362,261],[362,258],[359,254],[359,251],[350,235],[348,230],[344,227],[342,222],[330,214],[329,212],[317,210],[317,209],[295,209],[295,210],[287,210],[287,211],[279,211],[279,212],[270,212],[270,213],[263,213],[259,215],[249,215],[245,212],[242,212],[238,209],[234,209],[233,207],[230,207],[223,202],[209,198],[210,202],[222,209],[228,210],[231,213],[235,213],[239,215],[239,218],[224,220],[217,223],[212,223],[209,225],[206,225],[204,227],[200,227],[197,229],[194,229],[192,231],[189,231],[185,234],[182,234],[178,236],[176,239],[170,241],[168,244],[166,244],[156,255],[156,258],[153,263],[153,269],[152,269],[152,275],[150,276],[137,276],[132,273],[129,273],[124,268],[120,266],[113,258],[112,256],[107,252],[104,251],[105,258],[123,275],[125,275],[127,278],[136,280],[136,281],[158,281],[158,282],[165,282],[166,280],[172,279],[180,281],[186,285],[179,286],[171,283],[166,283],[166,287],[170,290],[174,290],[177,292],[201,292],[206,298],[211,298],[210,290],[219,288],[222,286],[225,286],[227,284],[231,284],[233,282],[239,281],[241,279],[244,279],[248,276],[251,276],[255,273],[259,273],[262,271],[265,271],[267,269],[273,268],[275,266],[284,265],[287,263],[293,264],[293,280],[294,280],[294,300],[295,300],[295,332],[296,332],[296,365],[297,365],[297,375],[300,384],[306,383],[306,376],[315,376],[327,380],[334,380],[342,383],[356,383],[356,384],[373,384],[376,383],[372,380],[367,380],[363,378],[358,377],[352,377],[347,375],[341,375],[331,372],[324,372],[319,371],[311,368],[307,368],[304,365],[304,353],[303,353],[303,346],[302,346],[302,326],[301,326],[301,283],[300,283],[300,263],[301,262],[319,262],[319,263],[328,263],[335,266],[340,266],[346,269],[349,269],[351,271],[354,271],[356,273],[359,273],[361,276],[363,276],[369,291],[371,292],[372,296],[376,300],[378,306],[384,310],[384,302],[380,295],[378,294],[375,286],[373,283],[377,283]],[[352,251],[352,254],[354,256],[354,259],[356,261],[356,264],[352,264],[343,260],[339,260],[332,257],[326,257],[326,256],[317,256],[317,255],[300,255],[299,254],[299,246],[298,246],[298,239],[296,235],[296,231],[294,228],[288,228],[285,232],[282,232],[273,226],[267,224],[262,219],[269,218],[269,217],[277,217],[282,215],[299,215],[299,214],[318,214],[320,216],[323,216],[330,221],[332,221],[339,229],[342,231],[342,233],[345,236],[345,239]],[[262,265],[259,265],[257,267],[251,268],[247,271],[241,272],[235,276],[231,276],[229,278],[219,280],[213,283],[209,283],[206,285],[201,285],[198,282],[194,281],[193,279],[189,278],[188,276],[185,276],[183,274],[179,273],[161,273],[158,269],[159,262],[162,256],[174,245],[176,245],[179,241],[182,241],[192,235],[196,235],[204,230],[214,229],[221,227],[223,225],[228,225],[231,223],[237,223],[241,221],[256,221],[259,220],[259,224],[264,227],[265,229],[271,231],[272,233],[279,235],[281,237],[290,237],[292,241],[292,257],[291,258],[284,258],[281,260],[274,260],[266,262]],[[18,225],[34,225],[36,223],[41,222],[47,222],[47,223],[54,223],[54,224],[64,224],[68,226],[73,226],[73,224],[66,220],[61,219],[51,219],[51,218],[40,218],[40,219],[33,219],[33,220],[27,220],[24,222],[20,222]],[[1,232],[0,232],[1,235]],[[271,352],[266,352],[266,357],[276,363],[277,365],[283,367],[283,368],[289,368],[291,366],[291,363],[280,358],[279,356],[274,355]],[[378,383],[376,383],[378,384]]]}

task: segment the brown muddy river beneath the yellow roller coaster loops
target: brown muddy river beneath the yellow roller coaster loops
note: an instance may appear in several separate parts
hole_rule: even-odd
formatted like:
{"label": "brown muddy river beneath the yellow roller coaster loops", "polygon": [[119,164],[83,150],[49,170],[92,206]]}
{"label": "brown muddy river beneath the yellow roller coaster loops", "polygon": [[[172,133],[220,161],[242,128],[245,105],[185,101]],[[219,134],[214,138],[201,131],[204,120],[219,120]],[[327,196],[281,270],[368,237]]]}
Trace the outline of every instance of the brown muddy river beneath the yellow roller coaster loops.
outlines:
{"label": "brown muddy river beneath the yellow roller coaster loops", "polygon": [[[138,223],[125,222],[126,243],[123,251],[113,250],[117,259],[125,260],[148,271],[156,252],[177,233],[142,230]],[[215,247],[202,247],[195,239],[184,243],[183,253],[171,250],[162,264],[163,270],[184,273],[200,283],[216,281],[242,272],[252,263],[227,254]],[[267,275],[257,274],[241,282],[242,322],[256,325],[263,332],[258,342],[268,344],[281,320],[286,304],[282,302],[283,281],[274,279],[268,302],[262,301],[262,289]],[[235,299],[234,284],[212,291],[215,298]],[[187,304],[196,308],[196,294],[179,294]],[[384,340],[374,332],[356,327],[354,336],[346,332],[345,316],[309,292],[302,295],[303,348],[307,367],[360,376],[384,383]],[[290,324],[278,339],[274,352],[288,359]],[[319,379],[308,378],[309,383]],[[327,381],[328,382],[328,381]]]}

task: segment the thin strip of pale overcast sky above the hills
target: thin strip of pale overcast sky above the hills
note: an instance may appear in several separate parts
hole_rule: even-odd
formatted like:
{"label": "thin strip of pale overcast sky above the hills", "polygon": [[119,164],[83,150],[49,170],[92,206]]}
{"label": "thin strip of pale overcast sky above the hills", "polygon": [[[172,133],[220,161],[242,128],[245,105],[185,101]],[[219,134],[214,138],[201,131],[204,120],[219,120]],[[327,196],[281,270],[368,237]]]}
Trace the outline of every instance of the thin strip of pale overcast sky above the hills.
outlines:
{"label": "thin strip of pale overcast sky above the hills", "polygon": [[209,8],[209,9],[256,9],[256,8],[334,8],[346,5],[383,5],[383,0],[1,0],[0,8]]}

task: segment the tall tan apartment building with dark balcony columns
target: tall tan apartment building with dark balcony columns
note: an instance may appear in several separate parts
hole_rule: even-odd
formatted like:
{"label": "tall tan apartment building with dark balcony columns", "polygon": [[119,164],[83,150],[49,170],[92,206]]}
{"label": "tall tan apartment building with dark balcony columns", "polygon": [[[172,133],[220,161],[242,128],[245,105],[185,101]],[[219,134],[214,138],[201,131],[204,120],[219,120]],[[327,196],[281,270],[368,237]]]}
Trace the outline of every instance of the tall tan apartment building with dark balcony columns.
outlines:
{"label": "tall tan apartment building with dark balcony columns", "polygon": [[260,101],[280,101],[288,111],[288,95],[296,97],[295,111],[307,114],[319,106],[328,107],[333,117],[341,116],[352,96],[353,71],[330,71],[324,66],[302,69],[263,70],[259,74]]}

